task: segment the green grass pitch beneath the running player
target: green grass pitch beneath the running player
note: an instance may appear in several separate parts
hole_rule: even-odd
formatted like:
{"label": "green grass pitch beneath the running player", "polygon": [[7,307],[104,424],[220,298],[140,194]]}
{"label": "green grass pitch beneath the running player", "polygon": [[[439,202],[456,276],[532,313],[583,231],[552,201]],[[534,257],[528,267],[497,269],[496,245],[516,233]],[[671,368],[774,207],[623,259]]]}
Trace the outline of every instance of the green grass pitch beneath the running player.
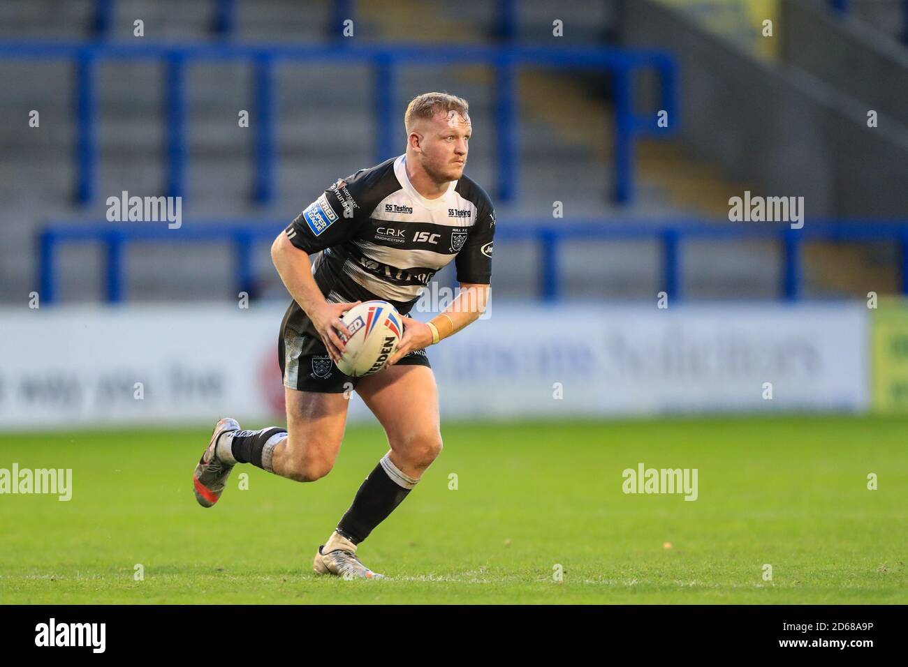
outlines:
{"label": "green grass pitch beneath the running player", "polygon": [[[0,602],[908,603],[908,418],[446,423],[360,546],[392,577],[371,582],[311,562],[387,450],[380,427],[348,427],[318,482],[238,466],[202,509],[210,429],[0,436],[0,467],[71,467],[74,489],[0,495]],[[697,468],[698,498],[624,494],[639,463]]]}

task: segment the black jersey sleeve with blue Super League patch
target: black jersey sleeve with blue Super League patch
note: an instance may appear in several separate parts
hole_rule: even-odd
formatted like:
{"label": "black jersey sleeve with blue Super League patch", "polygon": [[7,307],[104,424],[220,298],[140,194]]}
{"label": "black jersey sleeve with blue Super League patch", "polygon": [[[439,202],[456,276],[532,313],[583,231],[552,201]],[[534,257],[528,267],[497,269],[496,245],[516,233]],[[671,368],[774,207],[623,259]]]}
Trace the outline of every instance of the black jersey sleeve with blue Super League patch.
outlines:
{"label": "black jersey sleeve with blue Super League patch", "polygon": [[312,254],[351,239],[369,215],[357,202],[358,185],[341,179],[322,192],[287,226],[290,242]]}

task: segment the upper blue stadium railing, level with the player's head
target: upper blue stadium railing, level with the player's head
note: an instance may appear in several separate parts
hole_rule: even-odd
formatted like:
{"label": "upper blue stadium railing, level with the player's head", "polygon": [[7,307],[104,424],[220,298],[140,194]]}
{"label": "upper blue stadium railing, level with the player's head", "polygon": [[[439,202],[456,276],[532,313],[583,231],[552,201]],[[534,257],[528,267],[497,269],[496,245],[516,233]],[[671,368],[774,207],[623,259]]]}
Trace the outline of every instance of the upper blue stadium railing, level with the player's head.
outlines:
{"label": "upper blue stadium railing, level with the player's head", "polygon": [[[274,65],[280,62],[366,63],[373,67],[375,161],[397,154],[399,121],[395,118],[398,99],[397,73],[401,66],[426,64],[486,64],[495,70],[496,155],[498,160],[498,201],[507,203],[518,196],[518,110],[515,69],[544,66],[559,69],[605,70],[612,74],[615,98],[614,176],[611,198],[624,204],[634,195],[634,146],[638,137],[666,136],[675,132],[679,119],[676,101],[676,62],[661,51],[610,48],[525,48],[510,46],[411,46],[411,45],[309,45],[278,46],[252,44],[173,45],[146,43],[54,43],[0,42],[0,58],[64,59],[75,66],[74,102],[76,122],[75,199],[93,201],[98,142],[96,64],[99,61],[153,60],[166,66],[165,153],[166,184],[169,196],[186,191],[186,67],[200,61],[245,61],[252,63],[252,123],[255,149],[252,197],[259,203],[274,198],[276,95]],[[653,70],[661,81],[659,109],[640,114],[635,110],[634,75]],[[667,126],[659,127],[657,111],[667,113]]]}

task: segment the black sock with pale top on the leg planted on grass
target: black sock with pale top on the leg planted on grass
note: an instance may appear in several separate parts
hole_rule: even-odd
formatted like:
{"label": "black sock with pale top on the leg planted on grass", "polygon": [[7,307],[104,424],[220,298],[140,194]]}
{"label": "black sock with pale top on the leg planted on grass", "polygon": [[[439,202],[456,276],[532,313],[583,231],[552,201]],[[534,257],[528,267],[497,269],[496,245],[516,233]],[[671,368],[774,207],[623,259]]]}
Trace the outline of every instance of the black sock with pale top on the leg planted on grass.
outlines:
{"label": "black sock with pale top on the leg planted on grass", "polygon": [[[375,466],[375,469],[360,486],[360,490],[356,492],[353,505],[350,505],[350,509],[338,524],[338,533],[353,544],[360,544],[369,536],[375,526],[387,519],[418,481],[404,476],[390,463],[387,456],[382,461],[387,461],[386,465],[390,465],[389,471],[386,472],[385,466],[381,462]],[[394,481],[391,476],[400,481]],[[402,485],[409,486],[409,488]]]}

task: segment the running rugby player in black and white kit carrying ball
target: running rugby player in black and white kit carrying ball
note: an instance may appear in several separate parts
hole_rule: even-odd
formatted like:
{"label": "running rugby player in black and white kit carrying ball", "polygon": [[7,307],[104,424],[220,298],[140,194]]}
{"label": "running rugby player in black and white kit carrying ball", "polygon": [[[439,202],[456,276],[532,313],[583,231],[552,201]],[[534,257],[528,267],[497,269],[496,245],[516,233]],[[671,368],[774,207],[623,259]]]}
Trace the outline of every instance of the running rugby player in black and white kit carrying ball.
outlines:
{"label": "running rugby player in black and white kit carrying ball", "polygon": [[[203,507],[218,501],[236,464],[297,482],[328,475],[347,420],[345,389],[355,387],[384,428],[390,451],[318,548],[319,574],[382,576],[360,562],[357,547],[410,494],[442,446],[426,348],[479,319],[489,299],[495,211],[489,195],[463,175],[472,130],[468,103],[424,93],[410,102],[404,124],[403,155],[335,182],[271,246],[292,296],[278,339],[287,427],[241,430],[235,419],[222,418],[193,475]],[[457,299],[429,322],[403,317],[400,347],[378,373],[342,374],[333,361],[344,349],[341,335],[350,335],[340,319],[344,311],[384,299],[406,315],[451,260]]]}

